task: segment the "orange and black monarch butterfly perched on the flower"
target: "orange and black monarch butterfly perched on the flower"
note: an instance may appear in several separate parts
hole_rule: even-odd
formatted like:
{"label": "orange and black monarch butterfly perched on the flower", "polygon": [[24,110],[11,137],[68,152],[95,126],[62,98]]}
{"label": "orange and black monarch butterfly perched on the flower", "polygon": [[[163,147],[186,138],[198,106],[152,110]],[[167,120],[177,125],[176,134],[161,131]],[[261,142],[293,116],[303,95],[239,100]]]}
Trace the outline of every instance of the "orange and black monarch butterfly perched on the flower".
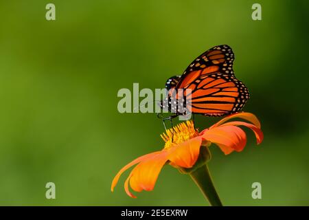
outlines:
{"label": "orange and black monarch butterfly perched on the flower", "polygon": [[[165,83],[165,88],[176,91],[161,100],[161,108],[168,106],[174,112],[169,118],[183,115],[180,112],[179,89],[191,89],[187,102],[191,113],[206,116],[222,116],[236,113],[249,100],[249,91],[245,85],[234,76],[233,61],[235,56],[228,45],[218,45],[198,56],[181,76],[172,76]],[[175,100],[176,98],[176,100]],[[176,109],[172,103],[176,103]],[[165,120],[166,120],[165,119]]]}

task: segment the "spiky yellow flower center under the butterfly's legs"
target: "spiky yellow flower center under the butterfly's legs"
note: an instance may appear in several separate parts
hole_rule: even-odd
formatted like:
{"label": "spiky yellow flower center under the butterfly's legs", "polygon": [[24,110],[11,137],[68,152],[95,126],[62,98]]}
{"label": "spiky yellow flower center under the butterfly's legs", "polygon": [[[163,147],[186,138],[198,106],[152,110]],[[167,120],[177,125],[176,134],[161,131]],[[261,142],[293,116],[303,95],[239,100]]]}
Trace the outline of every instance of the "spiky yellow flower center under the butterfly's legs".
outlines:
{"label": "spiky yellow flower center under the butterfly's legs", "polygon": [[161,137],[165,142],[164,148],[170,148],[174,144],[181,144],[196,136],[198,136],[198,131],[194,129],[192,121],[177,124],[172,129],[168,129],[165,133],[161,134]]}

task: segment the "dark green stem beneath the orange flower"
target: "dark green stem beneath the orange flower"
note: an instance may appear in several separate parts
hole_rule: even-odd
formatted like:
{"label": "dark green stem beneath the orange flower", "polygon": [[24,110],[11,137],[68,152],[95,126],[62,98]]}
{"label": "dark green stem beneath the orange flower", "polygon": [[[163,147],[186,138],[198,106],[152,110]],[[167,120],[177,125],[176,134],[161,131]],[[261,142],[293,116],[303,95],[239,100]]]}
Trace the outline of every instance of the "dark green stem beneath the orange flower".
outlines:
{"label": "dark green stem beneath the orange flower", "polygon": [[222,206],[218,193],[216,192],[216,188],[214,188],[214,184],[211,180],[207,164],[192,171],[190,176],[196,185],[198,185],[198,188],[201,189],[203,195],[209,201],[211,206]]}

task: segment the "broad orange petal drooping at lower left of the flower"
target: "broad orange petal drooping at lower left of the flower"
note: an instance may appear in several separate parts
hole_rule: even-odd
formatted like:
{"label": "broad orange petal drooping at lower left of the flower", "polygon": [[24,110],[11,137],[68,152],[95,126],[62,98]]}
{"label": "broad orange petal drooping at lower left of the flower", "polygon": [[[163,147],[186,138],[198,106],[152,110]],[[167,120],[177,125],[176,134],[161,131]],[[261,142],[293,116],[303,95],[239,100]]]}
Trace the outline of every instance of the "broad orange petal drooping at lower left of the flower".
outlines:
{"label": "broad orange petal drooping at lower left of the flower", "polygon": [[136,192],[141,190],[151,191],[155,187],[155,183],[161,171],[161,168],[168,161],[168,151],[161,151],[156,155],[143,160],[131,171],[128,179],[126,179],[125,190],[130,197],[135,197],[128,189],[128,181],[130,187]]}

